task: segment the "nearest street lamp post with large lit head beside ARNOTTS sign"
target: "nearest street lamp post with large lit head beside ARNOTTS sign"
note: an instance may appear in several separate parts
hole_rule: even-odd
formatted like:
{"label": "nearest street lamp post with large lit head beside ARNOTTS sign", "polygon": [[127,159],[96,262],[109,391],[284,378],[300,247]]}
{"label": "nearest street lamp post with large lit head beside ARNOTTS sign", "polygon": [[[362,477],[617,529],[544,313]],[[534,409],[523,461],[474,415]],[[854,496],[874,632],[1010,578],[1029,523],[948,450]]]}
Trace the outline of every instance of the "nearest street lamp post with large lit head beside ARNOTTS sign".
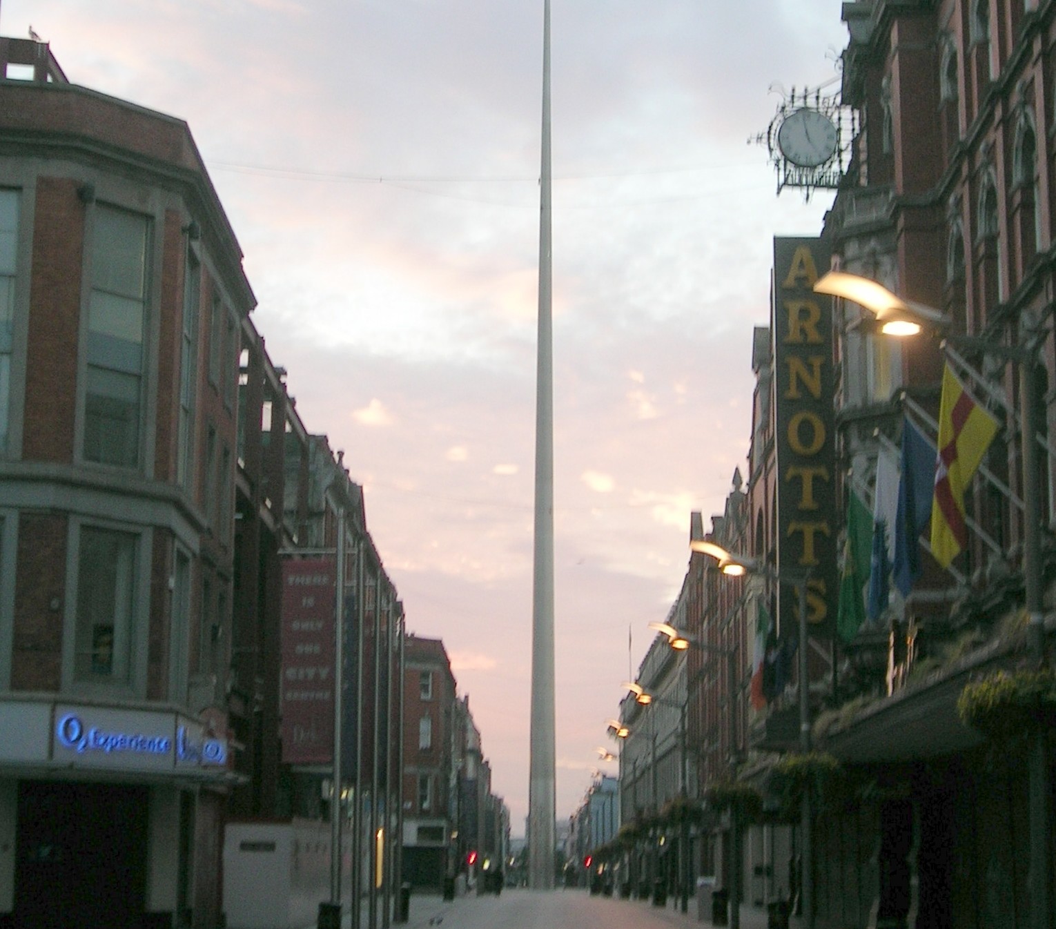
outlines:
{"label": "nearest street lamp post with large lit head beside ARNOTTS sign", "polygon": [[[886,287],[843,271],[829,271],[814,284],[818,293],[843,297],[872,312],[881,324],[881,331],[889,336],[914,336],[925,327],[936,328],[946,324],[946,319],[934,307],[903,300]],[[905,318],[902,328],[889,326],[885,318],[895,315]],[[1044,629],[1044,585],[1041,565],[1040,475],[1038,473],[1036,401],[1038,379],[1035,365],[1043,337],[1030,333],[1025,345],[995,345],[980,339],[959,337],[985,353],[997,355],[1004,361],[1019,365],[1019,439],[1023,487],[1023,601],[1030,620],[1030,645],[1033,658],[1039,665],[1046,661]],[[1045,737],[1036,733],[1029,751],[1029,804],[1030,804],[1030,875],[1031,925],[1033,929],[1050,929],[1052,914],[1049,902],[1049,770],[1045,761]]]}

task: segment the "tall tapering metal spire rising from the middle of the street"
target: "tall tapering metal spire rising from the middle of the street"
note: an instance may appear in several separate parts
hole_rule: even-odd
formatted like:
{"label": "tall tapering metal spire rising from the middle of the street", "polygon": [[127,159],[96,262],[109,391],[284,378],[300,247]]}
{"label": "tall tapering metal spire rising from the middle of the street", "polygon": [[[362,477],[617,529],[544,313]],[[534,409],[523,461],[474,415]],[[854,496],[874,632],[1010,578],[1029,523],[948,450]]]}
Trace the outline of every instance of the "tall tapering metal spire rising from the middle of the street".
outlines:
{"label": "tall tapering metal spire rising from the middle of the street", "polygon": [[535,381],[535,550],[528,785],[528,874],[529,886],[533,890],[552,890],[554,877],[553,335],[550,221],[550,0],[544,0],[539,344]]}

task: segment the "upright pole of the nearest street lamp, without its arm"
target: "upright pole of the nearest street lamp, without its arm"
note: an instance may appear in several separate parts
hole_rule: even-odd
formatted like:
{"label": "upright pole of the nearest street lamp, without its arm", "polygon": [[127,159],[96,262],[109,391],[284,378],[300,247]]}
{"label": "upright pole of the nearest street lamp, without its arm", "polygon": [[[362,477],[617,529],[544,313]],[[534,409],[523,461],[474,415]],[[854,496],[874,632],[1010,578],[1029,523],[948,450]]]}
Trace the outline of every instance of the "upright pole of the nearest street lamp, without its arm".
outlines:
{"label": "upright pole of the nearest street lamp, without its arm", "polygon": [[[1033,337],[1032,337],[1033,338]],[[1041,576],[1041,518],[1038,481],[1037,374],[1036,353],[1029,350],[1019,362],[1020,445],[1023,466],[1023,600],[1030,619],[1032,656],[1039,666],[1045,663],[1045,627],[1043,580]],[[1049,902],[1049,764],[1046,736],[1038,731],[1031,734],[1029,747],[1030,807],[1030,899],[1032,929],[1050,929],[1052,912]]]}

